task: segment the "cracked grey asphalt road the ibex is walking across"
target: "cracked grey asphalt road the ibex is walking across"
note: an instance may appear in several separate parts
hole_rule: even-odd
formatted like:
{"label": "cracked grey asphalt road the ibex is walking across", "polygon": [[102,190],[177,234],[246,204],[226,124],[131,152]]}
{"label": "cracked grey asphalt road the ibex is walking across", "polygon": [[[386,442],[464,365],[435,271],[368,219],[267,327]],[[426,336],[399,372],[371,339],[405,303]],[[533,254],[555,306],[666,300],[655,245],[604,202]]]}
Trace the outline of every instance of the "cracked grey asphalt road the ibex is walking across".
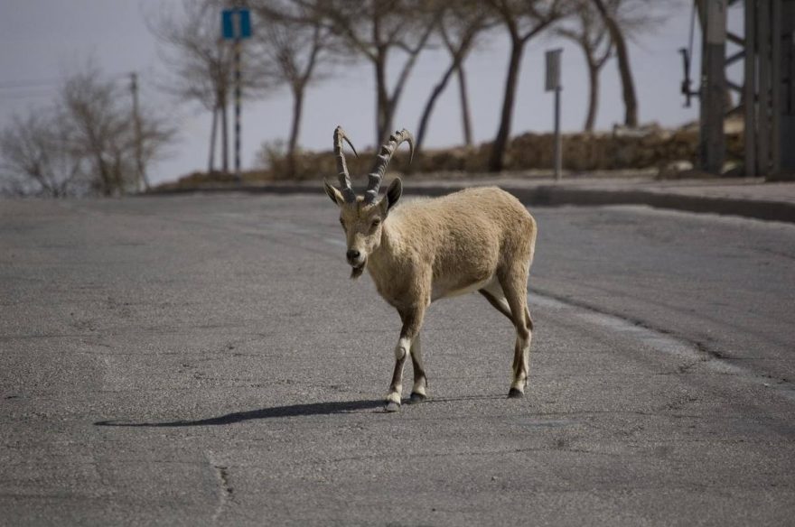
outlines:
{"label": "cracked grey asphalt road the ibex is walking across", "polygon": [[0,524],[792,524],[795,226],[532,212],[526,398],[469,295],[388,414],[324,196],[0,201]]}

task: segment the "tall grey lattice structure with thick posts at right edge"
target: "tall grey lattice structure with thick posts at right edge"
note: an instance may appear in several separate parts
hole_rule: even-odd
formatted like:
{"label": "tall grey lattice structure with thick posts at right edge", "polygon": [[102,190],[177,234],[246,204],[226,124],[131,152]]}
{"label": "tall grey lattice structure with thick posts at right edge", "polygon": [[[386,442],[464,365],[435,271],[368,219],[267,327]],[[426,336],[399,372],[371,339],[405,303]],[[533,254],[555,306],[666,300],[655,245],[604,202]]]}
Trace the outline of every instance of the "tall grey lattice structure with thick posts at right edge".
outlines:
{"label": "tall grey lattice structure with thick posts at right edge", "polygon": [[[740,0],[696,0],[702,27],[701,168],[719,173],[725,161],[725,94],[744,106],[745,175],[795,179],[795,0],[745,0],[744,35],[726,28],[727,9]],[[741,46],[725,56],[726,42]],[[744,86],[725,68],[744,60]],[[746,104],[754,101],[755,104]]]}

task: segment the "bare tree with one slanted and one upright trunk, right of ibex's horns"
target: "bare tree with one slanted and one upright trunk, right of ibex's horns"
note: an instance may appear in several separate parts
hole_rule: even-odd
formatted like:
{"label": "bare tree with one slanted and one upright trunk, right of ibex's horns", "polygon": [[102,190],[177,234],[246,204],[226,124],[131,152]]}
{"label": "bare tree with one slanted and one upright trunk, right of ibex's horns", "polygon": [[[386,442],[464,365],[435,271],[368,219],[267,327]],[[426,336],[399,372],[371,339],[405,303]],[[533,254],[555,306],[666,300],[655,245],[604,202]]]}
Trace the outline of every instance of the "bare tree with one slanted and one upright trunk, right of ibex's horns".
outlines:
{"label": "bare tree with one slanted and one upright trunk, right of ibex's horns", "polygon": [[472,144],[472,129],[467,102],[466,80],[463,71],[463,61],[472,51],[476,37],[483,31],[492,27],[496,20],[491,16],[491,11],[481,2],[453,2],[439,5],[437,33],[444,49],[450,55],[450,64],[444,70],[441,79],[431,90],[426,101],[422,116],[417,125],[416,152],[422,150],[426,138],[426,129],[431,114],[434,111],[436,100],[444,92],[447,83],[455,73],[458,74],[459,90],[461,96],[463,138],[467,144]]}

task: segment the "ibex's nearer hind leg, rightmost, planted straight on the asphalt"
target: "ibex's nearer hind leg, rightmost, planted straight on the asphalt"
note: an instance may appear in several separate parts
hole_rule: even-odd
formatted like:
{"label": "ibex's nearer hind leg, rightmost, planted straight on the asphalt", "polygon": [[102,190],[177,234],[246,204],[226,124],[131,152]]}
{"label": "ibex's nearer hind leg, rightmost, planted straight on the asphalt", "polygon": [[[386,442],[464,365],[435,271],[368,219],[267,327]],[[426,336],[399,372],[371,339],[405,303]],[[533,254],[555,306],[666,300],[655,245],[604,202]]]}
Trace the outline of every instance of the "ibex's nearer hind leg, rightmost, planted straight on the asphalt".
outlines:
{"label": "ibex's nearer hind leg, rightmost, planted straight on the asphalt", "polygon": [[508,301],[511,321],[516,328],[516,344],[513,351],[513,380],[508,396],[519,398],[524,396],[528,384],[530,343],[533,337],[533,322],[528,310],[528,273],[526,270],[507,273],[500,277],[500,285]]}

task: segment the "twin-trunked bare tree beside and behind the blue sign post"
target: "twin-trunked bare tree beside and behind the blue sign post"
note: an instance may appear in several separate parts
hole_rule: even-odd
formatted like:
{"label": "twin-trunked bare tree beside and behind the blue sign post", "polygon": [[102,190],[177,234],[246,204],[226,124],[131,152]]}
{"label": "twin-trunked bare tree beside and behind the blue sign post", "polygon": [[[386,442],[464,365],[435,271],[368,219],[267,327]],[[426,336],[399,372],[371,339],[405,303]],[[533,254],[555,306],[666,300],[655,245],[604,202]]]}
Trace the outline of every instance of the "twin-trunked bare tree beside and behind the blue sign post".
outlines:
{"label": "twin-trunked bare tree beside and behind the blue sign post", "polygon": [[[208,171],[215,169],[218,119],[221,132],[221,170],[229,171],[229,97],[232,91],[234,55],[220,35],[223,0],[182,0],[180,13],[149,16],[147,26],[160,42],[161,55],[172,73],[167,91],[186,101],[197,101],[212,112]],[[269,76],[257,70],[260,61],[244,48],[247,75],[246,97],[262,95],[270,87]]]}

